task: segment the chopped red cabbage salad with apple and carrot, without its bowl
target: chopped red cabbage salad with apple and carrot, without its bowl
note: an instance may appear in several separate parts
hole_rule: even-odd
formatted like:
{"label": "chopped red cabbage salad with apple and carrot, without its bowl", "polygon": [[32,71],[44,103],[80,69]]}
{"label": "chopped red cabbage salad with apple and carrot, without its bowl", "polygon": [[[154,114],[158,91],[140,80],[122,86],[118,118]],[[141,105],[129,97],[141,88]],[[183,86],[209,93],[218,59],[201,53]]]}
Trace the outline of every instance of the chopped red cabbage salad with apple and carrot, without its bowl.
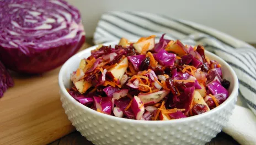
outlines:
{"label": "chopped red cabbage salad with apple and carrot, without its bowl", "polygon": [[99,46],[71,74],[68,93],[100,113],[136,120],[172,120],[205,113],[229,95],[221,65],[203,46],[155,36]]}

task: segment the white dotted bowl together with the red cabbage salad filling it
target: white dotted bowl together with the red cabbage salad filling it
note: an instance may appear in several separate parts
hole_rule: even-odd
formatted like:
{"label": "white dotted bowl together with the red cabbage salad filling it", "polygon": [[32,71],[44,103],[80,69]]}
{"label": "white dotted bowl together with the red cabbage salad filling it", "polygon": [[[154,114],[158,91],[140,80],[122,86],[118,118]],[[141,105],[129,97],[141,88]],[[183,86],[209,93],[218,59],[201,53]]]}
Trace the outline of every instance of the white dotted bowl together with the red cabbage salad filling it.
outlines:
{"label": "white dotted bowl together with the red cabbage salad filling it", "polygon": [[205,144],[238,95],[224,60],[164,35],[90,47],[67,60],[58,83],[68,119],[94,144]]}

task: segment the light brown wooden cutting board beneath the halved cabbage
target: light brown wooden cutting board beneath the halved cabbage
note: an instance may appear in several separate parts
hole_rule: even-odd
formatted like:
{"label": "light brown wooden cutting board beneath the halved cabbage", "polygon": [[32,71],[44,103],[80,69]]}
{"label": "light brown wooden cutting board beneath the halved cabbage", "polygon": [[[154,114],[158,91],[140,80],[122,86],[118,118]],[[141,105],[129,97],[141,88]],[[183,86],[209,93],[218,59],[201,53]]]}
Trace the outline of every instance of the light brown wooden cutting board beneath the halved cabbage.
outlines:
{"label": "light brown wooden cutting board beneath the halved cabbage", "polygon": [[42,75],[12,73],[15,86],[0,99],[1,145],[47,144],[75,130],[58,94],[59,71],[60,67]]}

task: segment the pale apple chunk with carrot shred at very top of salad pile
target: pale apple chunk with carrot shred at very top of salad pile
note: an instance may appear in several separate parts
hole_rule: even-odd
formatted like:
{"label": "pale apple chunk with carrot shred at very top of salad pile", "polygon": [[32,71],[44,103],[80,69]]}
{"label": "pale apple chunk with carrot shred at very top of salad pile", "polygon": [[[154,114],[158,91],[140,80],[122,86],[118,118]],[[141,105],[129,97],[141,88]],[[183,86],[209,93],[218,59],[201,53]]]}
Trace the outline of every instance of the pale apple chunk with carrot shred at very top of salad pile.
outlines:
{"label": "pale apple chunk with carrot shred at very top of salad pile", "polygon": [[139,40],[138,42],[134,43],[132,46],[136,49],[138,53],[142,52],[142,48],[145,47],[149,43],[147,51],[154,48],[154,37],[143,38],[143,40]]}

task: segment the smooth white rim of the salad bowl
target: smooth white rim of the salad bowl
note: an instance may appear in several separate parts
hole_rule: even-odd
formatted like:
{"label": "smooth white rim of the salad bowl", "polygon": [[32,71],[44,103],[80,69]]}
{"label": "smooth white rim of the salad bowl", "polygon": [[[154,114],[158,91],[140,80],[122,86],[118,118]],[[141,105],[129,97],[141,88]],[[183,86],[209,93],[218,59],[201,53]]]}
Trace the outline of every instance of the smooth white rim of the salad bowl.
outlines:
{"label": "smooth white rim of the salad bowl", "polygon": [[[106,42],[103,43],[102,45],[108,46],[108,45],[113,45],[113,44],[118,44],[119,41],[113,41],[113,42]],[[195,115],[195,116],[190,116],[188,118],[181,118],[181,119],[174,119],[174,120],[155,120],[155,121],[148,121],[148,120],[134,120],[134,119],[126,119],[126,118],[118,118],[116,116],[112,116],[112,115],[108,115],[108,114],[104,114],[104,113],[100,113],[98,111],[95,111],[93,109],[90,109],[89,107],[86,107],[85,105],[79,103],[76,101],[76,99],[74,99],[66,90],[65,85],[63,83],[63,73],[65,73],[65,70],[68,69],[68,63],[71,63],[72,60],[76,57],[78,57],[79,55],[82,55],[84,53],[90,53],[90,51],[92,51],[93,49],[97,48],[99,45],[94,45],[91,46],[89,48],[84,49],[81,52],[78,52],[77,54],[73,55],[70,59],[68,59],[61,67],[61,70],[58,74],[58,85],[60,87],[60,91],[62,92],[62,94],[70,101],[72,102],[74,105],[76,105],[77,107],[83,109],[84,111],[88,111],[89,113],[95,114],[95,115],[99,115],[102,118],[106,118],[106,119],[110,119],[110,120],[116,120],[116,121],[121,121],[121,122],[129,122],[129,123],[137,123],[137,124],[159,124],[159,122],[161,122],[161,124],[169,124],[169,123],[175,123],[175,122],[186,122],[186,121],[192,121],[192,120],[197,120],[197,119],[201,119],[201,118],[205,118],[206,116],[211,116],[211,114],[215,113],[216,111],[222,109],[223,107],[225,107],[226,104],[230,103],[234,98],[237,97],[238,95],[238,78],[236,73],[234,72],[234,70],[231,68],[230,65],[228,65],[225,60],[223,60],[222,58],[218,57],[217,55],[215,55],[214,53],[211,53],[209,51],[205,50],[206,55],[210,55],[212,58],[217,58],[218,62],[221,62],[222,64],[225,64],[225,66],[227,67],[227,69],[231,72],[232,75],[232,79],[234,82],[234,86],[233,86],[233,91],[230,93],[230,96],[228,97],[228,99],[223,102],[222,104],[220,104],[218,107],[211,109],[210,111],[207,111],[206,113],[202,113],[199,115]]]}

